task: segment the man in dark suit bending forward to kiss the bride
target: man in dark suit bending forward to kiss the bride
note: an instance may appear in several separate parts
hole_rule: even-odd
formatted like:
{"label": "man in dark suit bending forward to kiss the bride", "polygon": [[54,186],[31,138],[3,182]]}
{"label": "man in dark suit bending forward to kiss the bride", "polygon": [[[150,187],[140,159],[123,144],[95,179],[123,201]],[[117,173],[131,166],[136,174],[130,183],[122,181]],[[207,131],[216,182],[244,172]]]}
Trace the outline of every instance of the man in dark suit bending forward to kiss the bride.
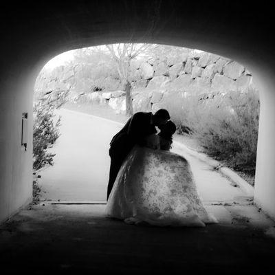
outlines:
{"label": "man in dark suit bending forward to kiss the bride", "polygon": [[170,120],[170,115],[166,109],[159,109],[154,115],[151,112],[137,112],[132,115],[124,127],[113,136],[109,149],[111,166],[107,200],[113,188],[115,178],[118,175],[118,171],[120,170],[120,166],[133,146],[135,146],[135,144],[144,146],[144,138],[146,135],[157,133],[155,126],[162,126],[168,120]]}

